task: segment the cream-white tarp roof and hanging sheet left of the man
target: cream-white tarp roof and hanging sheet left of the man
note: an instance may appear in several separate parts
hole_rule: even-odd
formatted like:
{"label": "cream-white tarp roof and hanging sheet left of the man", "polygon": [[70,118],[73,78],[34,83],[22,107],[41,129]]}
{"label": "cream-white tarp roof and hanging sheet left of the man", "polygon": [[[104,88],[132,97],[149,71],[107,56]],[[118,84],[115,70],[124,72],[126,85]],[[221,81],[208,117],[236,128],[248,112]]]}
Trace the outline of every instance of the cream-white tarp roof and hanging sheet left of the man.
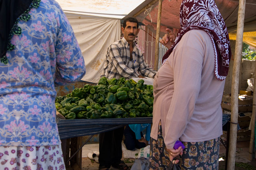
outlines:
{"label": "cream-white tarp roof and hanging sheet left of the man", "polygon": [[84,56],[86,74],[81,79],[98,83],[107,48],[120,40],[120,19],[141,10],[152,0],[57,0],[75,32]]}

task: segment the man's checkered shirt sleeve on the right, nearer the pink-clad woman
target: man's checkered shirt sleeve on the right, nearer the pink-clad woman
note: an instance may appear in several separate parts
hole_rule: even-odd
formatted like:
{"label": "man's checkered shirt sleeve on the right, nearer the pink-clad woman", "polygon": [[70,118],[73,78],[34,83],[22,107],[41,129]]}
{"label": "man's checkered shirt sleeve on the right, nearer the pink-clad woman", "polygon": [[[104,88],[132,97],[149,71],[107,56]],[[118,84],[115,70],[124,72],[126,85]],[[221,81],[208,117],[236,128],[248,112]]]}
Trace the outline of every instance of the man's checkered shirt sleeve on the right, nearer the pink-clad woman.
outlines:
{"label": "man's checkered shirt sleeve on the right, nearer the pink-clad woman", "polygon": [[144,77],[154,78],[156,75],[156,70],[153,70],[148,67],[148,64],[145,62],[144,56],[142,55],[141,52],[140,52],[140,56],[141,57],[140,57],[140,62],[139,62],[139,65],[140,65],[139,72]]}

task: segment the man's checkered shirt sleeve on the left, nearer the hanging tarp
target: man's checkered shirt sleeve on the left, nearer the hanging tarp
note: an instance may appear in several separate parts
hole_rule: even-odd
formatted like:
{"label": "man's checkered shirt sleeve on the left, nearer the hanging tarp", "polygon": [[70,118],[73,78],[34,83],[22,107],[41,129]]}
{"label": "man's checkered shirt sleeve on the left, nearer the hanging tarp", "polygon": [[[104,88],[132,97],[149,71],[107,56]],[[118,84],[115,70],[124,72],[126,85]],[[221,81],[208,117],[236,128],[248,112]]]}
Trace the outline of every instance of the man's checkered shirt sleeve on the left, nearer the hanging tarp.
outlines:
{"label": "man's checkered shirt sleeve on the left, nearer the hanging tarp", "polygon": [[108,48],[108,55],[113,63],[113,66],[122,77],[137,78],[139,76],[138,73],[126,65],[122,58],[121,49],[116,44],[110,45]]}

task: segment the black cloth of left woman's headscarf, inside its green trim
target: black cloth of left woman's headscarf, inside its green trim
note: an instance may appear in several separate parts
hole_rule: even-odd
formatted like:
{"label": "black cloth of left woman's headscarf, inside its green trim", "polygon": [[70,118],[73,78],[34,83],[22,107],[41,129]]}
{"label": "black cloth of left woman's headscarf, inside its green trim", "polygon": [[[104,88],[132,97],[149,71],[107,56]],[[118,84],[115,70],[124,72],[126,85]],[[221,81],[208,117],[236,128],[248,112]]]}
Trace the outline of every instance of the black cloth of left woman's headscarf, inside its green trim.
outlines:
{"label": "black cloth of left woman's headscarf, inside its green trim", "polygon": [[0,0],[0,59],[5,57],[10,31],[32,0]]}

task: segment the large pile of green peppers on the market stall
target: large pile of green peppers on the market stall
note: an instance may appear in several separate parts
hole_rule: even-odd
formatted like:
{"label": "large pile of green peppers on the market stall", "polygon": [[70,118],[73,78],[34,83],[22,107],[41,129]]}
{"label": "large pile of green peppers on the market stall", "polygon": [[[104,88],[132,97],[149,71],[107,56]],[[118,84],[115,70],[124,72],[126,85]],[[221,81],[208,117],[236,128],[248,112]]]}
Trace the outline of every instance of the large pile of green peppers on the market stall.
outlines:
{"label": "large pile of green peppers on the market stall", "polygon": [[58,96],[55,106],[66,119],[152,117],[153,85],[144,80],[102,77],[98,85],[75,88]]}

